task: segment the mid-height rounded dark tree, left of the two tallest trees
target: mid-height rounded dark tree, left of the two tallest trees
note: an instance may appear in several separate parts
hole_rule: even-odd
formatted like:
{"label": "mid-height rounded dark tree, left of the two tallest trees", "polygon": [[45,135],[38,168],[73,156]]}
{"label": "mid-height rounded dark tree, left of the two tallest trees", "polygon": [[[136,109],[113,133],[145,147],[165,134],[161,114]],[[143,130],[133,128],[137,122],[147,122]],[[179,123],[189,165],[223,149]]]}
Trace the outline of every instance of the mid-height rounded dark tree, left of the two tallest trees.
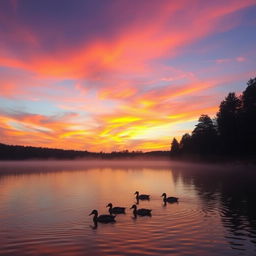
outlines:
{"label": "mid-height rounded dark tree, left of the two tallest trees", "polygon": [[212,119],[208,115],[201,115],[192,132],[194,150],[201,155],[215,153],[217,140],[217,131]]}

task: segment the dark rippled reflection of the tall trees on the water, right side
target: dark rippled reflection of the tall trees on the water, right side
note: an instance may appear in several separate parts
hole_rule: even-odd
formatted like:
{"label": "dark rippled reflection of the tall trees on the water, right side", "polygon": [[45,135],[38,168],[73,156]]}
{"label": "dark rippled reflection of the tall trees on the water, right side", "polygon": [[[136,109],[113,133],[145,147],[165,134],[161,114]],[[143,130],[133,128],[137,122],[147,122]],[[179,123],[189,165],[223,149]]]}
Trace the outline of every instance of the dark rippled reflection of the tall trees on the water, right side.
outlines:
{"label": "dark rippled reflection of the tall trees on the water, right side", "polygon": [[198,166],[189,172],[180,172],[184,183],[195,185],[206,215],[218,210],[217,213],[225,227],[224,238],[228,240],[231,248],[245,252],[251,248],[255,253],[255,167]]}

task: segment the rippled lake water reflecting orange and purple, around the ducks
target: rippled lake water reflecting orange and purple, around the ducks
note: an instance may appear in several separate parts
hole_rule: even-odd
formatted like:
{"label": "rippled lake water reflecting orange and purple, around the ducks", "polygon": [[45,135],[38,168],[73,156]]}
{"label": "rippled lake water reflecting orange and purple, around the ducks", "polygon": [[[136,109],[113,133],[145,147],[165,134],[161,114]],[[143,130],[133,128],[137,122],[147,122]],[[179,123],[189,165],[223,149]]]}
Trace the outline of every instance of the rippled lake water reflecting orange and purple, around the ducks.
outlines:
{"label": "rippled lake water reflecting orange and purple, around the ducks", "polygon": [[[256,171],[256,170],[255,170]],[[164,162],[0,163],[0,255],[256,255],[252,167]],[[254,174],[255,173],[255,174]],[[97,209],[139,207],[152,217],[93,228]],[[163,205],[160,195],[178,196]]]}

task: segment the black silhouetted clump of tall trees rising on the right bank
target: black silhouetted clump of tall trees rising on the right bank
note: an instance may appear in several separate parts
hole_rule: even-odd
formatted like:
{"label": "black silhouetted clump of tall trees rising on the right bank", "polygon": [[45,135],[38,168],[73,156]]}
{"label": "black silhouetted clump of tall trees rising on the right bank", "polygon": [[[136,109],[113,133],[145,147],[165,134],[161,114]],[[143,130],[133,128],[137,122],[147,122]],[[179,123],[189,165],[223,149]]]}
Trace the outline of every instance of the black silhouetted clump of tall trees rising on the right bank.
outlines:
{"label": "black silhouetted clump of tall trees rising on the right bank", "polygon": [[256,156],[256,77],[241,95],[230,92],[216,117],[201,115],[191,134],[173,138],[171,156]]}

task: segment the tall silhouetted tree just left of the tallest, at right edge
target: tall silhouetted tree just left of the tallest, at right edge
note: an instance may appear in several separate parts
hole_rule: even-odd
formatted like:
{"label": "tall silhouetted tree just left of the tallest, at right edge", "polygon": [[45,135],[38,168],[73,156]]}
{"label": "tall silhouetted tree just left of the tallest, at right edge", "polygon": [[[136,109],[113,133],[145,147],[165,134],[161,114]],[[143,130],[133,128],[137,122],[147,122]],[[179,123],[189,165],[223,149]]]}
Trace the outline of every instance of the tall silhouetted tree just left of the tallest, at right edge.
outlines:
{"label": "tall silhouetted tree just left of the tallest, at right edge", "polygon": [[234,92],[229,93],[220,104],[219,112],[217,113],[217,125],[220,135],[220,145],[218,148],[225,153],[235,153],[240,148],[241,105],[241,100]]}

